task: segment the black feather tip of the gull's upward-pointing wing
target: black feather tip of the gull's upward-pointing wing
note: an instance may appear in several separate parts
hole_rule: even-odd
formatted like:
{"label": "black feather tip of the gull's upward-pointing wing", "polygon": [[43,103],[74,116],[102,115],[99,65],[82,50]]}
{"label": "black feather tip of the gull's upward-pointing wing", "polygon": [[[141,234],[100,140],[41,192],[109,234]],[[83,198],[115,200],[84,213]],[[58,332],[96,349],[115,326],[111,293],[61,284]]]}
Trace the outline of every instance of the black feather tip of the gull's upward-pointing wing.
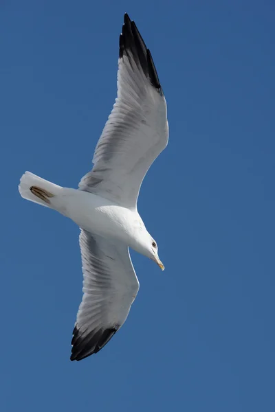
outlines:
{"label": "black feather tip of the gull's upward-pointing wing", "polygon": [[[134,21],[131,21],[127,13],[124,14],[124,25],[122,26],[122,34],[120,34],[120,59],[126,55],[135,61],[135,64],[142,68],[144,75],[148,78],[155,89],[162,95],[162,87],[159,83],[157,70],[146,44],[137,29]],[[133,65],[131,65],[133,67]]]}

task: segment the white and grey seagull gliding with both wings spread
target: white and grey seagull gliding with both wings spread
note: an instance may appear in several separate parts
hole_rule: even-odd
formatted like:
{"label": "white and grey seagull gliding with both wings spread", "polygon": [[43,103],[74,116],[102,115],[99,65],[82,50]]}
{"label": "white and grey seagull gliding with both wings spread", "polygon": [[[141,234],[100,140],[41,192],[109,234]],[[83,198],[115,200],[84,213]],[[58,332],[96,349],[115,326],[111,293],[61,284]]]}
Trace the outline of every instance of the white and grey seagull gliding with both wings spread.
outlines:
{"label": "white and grey seagull gliding with both wings spread", "polygon": [[137,211],[144,176],[168,144],[166,100],[140,32],[124,14],[118,60],[118,96],[94,152],[93,168],[78,189],[61,187],[31,172],[19,192],[59,211],[80,227],[83,299],[72,338],[71,361],[106,345],[128,317],[140,284],[129,247],[162,270],[157,243]]}

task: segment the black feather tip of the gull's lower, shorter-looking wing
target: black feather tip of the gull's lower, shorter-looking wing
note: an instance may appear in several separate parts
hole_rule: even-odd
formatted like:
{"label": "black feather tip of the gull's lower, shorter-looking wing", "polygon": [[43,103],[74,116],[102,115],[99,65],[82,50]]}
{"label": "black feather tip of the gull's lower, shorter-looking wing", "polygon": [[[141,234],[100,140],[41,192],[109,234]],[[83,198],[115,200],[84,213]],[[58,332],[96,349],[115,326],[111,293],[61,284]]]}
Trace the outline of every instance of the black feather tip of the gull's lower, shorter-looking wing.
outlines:
{"label": "black feather tip of the gull's lower, shorter-looking wing", "polygon": [[118,328],[108,328],[100,330],[92,330],[88,334],[80,332],[77,326],[74,328],[74,336],[72,339],[72,355],[71,361],[81,361],[92,354],[102,350],[109,340],[113,337]]}

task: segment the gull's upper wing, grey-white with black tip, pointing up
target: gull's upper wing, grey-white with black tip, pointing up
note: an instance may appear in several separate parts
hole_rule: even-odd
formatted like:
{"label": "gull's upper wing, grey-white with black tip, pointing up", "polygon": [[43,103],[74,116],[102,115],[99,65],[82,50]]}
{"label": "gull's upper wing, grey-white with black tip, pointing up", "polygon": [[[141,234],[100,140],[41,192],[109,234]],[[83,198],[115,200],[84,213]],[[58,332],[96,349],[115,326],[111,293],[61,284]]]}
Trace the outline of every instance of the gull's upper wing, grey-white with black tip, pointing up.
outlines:
{"label": "gull's upper wing, grey-white with black tip, pointing up", "polygon": [[136,207],[140,185],[168,143],[166,101],[150,51],[125,14],[120,34],[118,98],[80,190]]}

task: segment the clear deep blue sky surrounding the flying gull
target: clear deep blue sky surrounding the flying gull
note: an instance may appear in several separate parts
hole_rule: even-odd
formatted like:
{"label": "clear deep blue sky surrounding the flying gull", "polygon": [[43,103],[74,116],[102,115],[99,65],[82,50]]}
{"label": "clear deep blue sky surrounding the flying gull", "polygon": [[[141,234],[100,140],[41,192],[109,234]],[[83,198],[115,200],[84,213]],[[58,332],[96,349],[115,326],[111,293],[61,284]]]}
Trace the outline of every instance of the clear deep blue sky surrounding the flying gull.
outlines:
{"label": "clear deep blue sky surrounding the flying gull", "polygon": [[[1,1],[3,411],[273,412],[274,4]],[[78,227],[23,201],[30,170],[76,187],[116,93],[128,12],[151,49],[170,143],[139,209],[166,271],[97,355],[69,361]]]}

